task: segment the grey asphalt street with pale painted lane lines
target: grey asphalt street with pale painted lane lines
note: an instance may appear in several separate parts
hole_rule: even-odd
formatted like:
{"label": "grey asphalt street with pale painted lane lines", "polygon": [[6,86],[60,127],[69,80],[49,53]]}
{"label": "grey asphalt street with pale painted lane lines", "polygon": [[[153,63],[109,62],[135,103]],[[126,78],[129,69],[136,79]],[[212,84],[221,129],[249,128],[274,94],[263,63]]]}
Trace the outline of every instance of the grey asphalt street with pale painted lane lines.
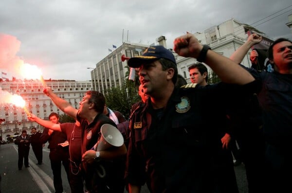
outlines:
{"label": "grey asphalt street with pale painted lane lines", "polygon": [[[0,190],[1,193],[54,193],[48,144],[43,148],[43,164],[37,165],[35,154],[30,148],[29,165],[18,170],[18,151],[14,143],[0,145]],[[235,167],[239,193],[248,193],[244,165]],[[70,193],[66,172],[62,166],[62,180],[65,193]],[[125,193],[127,193],[125,191]],[[141,193],[149,193],[146,186]]]}

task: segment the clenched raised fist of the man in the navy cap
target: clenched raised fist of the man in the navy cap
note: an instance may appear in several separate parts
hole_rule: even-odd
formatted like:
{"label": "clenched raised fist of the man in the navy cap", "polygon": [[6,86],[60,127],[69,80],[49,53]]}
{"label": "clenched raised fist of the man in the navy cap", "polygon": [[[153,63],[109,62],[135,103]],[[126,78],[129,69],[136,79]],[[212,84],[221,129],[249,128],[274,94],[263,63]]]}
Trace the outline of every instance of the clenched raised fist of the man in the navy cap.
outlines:
{"label": "clenched raised fist of the man in the navy cap", "polygon": [[183,57],[198,58],[203,46],[198,39],[191,33],[177,37],[174,42],[173,50]]}

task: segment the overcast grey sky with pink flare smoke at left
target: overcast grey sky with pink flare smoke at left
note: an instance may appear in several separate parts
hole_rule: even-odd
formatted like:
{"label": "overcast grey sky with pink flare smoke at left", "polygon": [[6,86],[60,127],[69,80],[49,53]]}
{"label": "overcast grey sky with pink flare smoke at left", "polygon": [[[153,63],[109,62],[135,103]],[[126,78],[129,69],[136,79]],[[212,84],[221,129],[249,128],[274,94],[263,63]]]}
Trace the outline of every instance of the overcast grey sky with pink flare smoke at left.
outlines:
{"label": "overcast grey sky with pink flare smoke at left", "polygon": [[44,79],[90,80],[112,45],[150,45],[234,18],[269,38],[292,33],[285,25],[291,0],[1,0],[0,70],[19,77],[17,62],[37,65]]}

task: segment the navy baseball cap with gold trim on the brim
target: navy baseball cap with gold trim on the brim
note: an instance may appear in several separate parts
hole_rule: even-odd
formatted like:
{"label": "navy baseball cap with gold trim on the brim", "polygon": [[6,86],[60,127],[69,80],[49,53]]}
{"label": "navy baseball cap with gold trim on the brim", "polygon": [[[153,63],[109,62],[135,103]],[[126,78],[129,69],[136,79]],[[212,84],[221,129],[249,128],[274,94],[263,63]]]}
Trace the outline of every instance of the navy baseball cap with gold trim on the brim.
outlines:
{"label": "navy baseball cap with gold trim on the brim", "polygon": [[160,58],[170,60],[176,64],[174,55],[171,53],[171,51],[164,48],[163,46],[151,46],[144,51],[142,56],[135,56],[130,58],[128,60],[128,66],[132,68],[138,68],[144,63],[155,61]]}

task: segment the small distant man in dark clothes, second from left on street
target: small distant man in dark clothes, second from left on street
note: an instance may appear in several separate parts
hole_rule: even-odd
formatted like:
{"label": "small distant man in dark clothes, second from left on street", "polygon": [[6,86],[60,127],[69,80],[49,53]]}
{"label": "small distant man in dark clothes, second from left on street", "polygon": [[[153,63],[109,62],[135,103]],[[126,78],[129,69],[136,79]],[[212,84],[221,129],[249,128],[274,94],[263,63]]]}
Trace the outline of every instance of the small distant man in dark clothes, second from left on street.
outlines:
{"label": "small distant man in dark clothes, second from left on street", "polygon": [[44,144],[42,144],[39,141],[40,136],[41,136],[41,133],[37,132],[36,128],[33,128],[32,135],[31,135],[31,144],[32,144],[35,156],[37,158],[37,165],[42,164],[42,148],[44,146]]}

